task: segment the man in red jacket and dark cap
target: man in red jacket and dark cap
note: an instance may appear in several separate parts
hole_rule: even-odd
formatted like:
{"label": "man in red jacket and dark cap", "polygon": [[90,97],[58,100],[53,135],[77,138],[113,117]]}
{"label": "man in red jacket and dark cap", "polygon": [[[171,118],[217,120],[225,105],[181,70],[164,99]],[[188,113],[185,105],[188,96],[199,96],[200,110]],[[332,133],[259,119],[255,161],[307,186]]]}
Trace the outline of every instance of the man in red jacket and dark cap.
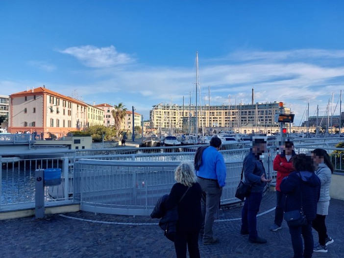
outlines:
{"label": "man in red jacket and dark cap", "polygon": [[277,154],[273,160],[273,170],[277,171],[276,180],[276,209],[275,209],[275,220],[274,224],[270,227],[271,231],[277,231],[282,228],[283,221],[283,207],[285,203],[285,195],[281,192],[279,186],[281,185],[282,179],[289,176],[294,171],[292,157],[296,155],[293,150],[294,143],[290,139],[286,139],[283,143],[281,142],[281,154]]}

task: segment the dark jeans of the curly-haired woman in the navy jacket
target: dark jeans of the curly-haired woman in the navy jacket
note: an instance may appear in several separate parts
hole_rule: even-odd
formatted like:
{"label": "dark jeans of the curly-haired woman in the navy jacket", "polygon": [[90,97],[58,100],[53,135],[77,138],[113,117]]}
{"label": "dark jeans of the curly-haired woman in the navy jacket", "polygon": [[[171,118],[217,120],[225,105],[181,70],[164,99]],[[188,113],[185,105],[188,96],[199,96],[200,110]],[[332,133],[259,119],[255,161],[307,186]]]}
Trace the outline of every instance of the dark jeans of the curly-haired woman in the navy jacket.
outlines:
{"label": "dark jeans of the curly-haired woman in the navy jacket", "polygon": [[[311,258],[314,247],[312,220],[307,219],[307,224],[304,226],[289,227],[289,232],[290,236],[292,237],[294,258]],[[304,251],[301,234],[305,242]]]}

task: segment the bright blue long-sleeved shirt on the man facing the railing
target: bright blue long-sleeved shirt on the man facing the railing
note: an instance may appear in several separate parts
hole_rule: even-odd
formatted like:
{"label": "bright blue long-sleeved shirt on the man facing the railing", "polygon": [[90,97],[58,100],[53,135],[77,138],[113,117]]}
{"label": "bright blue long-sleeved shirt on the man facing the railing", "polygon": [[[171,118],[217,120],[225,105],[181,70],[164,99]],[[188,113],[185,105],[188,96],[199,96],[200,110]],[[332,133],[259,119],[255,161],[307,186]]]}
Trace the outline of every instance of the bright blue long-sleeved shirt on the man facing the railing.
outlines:
{"label": "bright blue long-sleeved shirt on the man facing the railing", "polygon": [[209,146],[203,151],[202,164],[196,174],[199,177],[217,180],[220,187],[225,186],[226,165],[222,154],[215,147]]}

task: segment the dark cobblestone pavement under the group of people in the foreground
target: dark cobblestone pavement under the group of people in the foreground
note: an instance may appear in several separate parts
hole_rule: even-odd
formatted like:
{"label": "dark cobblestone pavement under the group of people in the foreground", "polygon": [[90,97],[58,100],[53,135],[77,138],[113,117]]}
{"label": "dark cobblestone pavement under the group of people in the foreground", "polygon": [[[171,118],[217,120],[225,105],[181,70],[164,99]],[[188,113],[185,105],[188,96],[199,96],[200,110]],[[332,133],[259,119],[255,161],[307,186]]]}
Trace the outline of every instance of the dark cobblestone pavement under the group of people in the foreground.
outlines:
{"label": "dark cobblestone pavement under the group of people in the foreground", "polygon": [[[240,235],[241,208],[223,211],[214,223],[220,243],[210,246],[199,241],[204,258],[291,258],[293,249],[287,224],[271,232],[275,193],[268,192],[258,216],[258,234],[267,244],[252,244]],[[335,240],[327,253],[314,258],[344,257],[344,201],[332,199],[326,218],[328,234]],[[157,219],[147,216],[119,216],[74,212],[0,221],[1,258],[172,258],[173,243],[163,236]],[[314,233],[315,241],[318,240]]]}

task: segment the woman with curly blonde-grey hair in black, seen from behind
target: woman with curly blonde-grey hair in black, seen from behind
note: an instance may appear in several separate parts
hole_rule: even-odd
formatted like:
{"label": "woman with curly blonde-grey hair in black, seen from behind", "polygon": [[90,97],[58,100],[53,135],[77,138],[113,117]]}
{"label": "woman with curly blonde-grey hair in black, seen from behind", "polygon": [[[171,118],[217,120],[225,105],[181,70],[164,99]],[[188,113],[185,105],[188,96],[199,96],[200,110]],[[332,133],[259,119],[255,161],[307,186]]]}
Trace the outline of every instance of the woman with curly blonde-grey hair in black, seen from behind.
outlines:
{"label": "woman with curly blonde-grey hair in black, seen from behind", "polygon": [[[165,209],[172,210],[177,206],[178,210],[174,236],[175,253],[177,258],[186,258],[188,247],[189,257],[199,258],[198,235],[202,225],[202,192],[196,181],[194,165],[187,162],[178,165],[174,172],[174,179],[177,183],[171,189],[165,202]],[[183,195],[183,199],[179,202]]]}

